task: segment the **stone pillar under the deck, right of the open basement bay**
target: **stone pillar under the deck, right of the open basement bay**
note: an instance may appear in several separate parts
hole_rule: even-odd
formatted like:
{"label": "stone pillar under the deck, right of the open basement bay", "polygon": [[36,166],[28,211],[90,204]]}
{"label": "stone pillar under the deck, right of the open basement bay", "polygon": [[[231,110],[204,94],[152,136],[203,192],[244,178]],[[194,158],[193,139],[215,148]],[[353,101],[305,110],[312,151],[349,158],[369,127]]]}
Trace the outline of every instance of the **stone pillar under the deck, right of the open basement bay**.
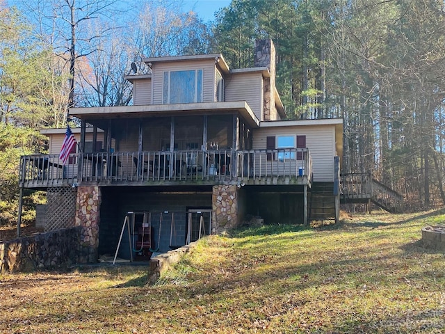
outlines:
{"label": "stone pillar under the deck, right of the open basement bay", "polygon": [[213,186],[212,233],[220,233],[238,225],[238,188],[234,185]]}

